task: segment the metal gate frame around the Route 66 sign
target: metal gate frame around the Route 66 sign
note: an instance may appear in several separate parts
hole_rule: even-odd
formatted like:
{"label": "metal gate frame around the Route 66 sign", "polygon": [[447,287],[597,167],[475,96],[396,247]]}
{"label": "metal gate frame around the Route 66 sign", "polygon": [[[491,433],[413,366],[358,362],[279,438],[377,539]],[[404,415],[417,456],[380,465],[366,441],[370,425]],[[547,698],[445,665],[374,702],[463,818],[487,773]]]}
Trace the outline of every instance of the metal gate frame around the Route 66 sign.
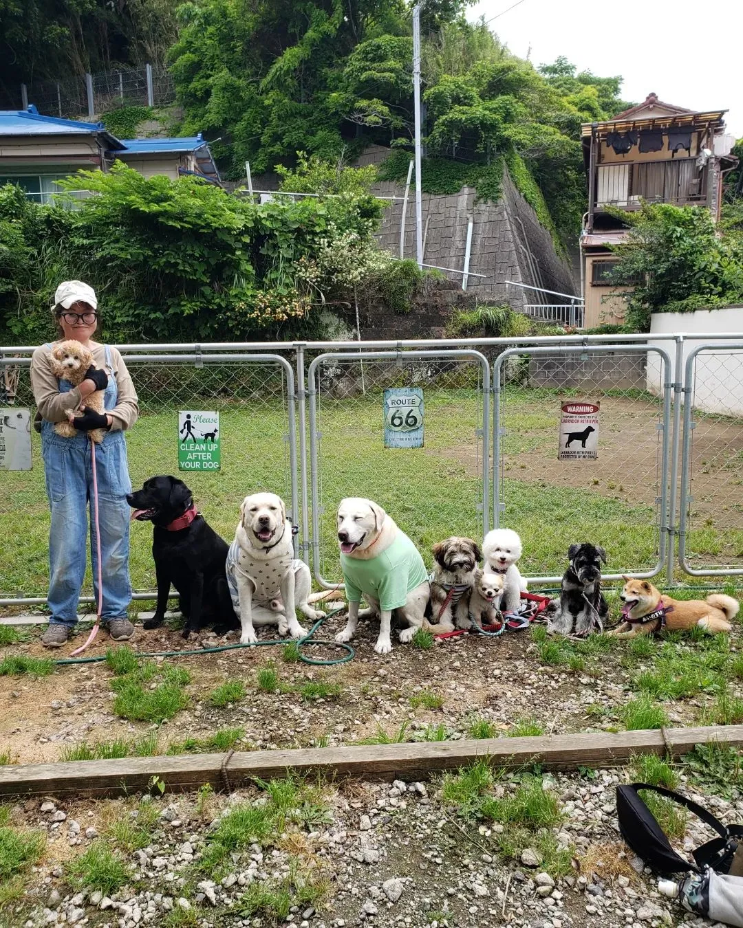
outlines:
{"label": "metal gate frame around the Route 66 sign", "polygon": [[[469,357],[479,363],[482,370],[482,522],[483,535],[489,530],[489,503],[490,503],[490,366],[488,358],[478,351],[472,349],[453,349],[442,351],[357,351],[357,352],[328,352],[319,354],[312,361],[307,370],[307,391],[309,397],[309,458],[310,458],[310,476],[312,481],[312,569],[315,579],[320,586],[326,589],[335,586],[326,580],[320,572],[319,562],[319,469],[318,469],[318,389],[316,388],[316,375],[319,365],[325,361],[375,361],[375,360],[398,360],[411,359],[437,360],[440,358],[461,359]],[[301,407],[300,407],[301,408]],[[300,442],[302,435],[300,434]],[[306,467],[306,457],[303,458],[303,465]],[[306,475],[303,474],[303,486],[306,484]],[[306,508],[306,495],[302,500],[303,507]]]}

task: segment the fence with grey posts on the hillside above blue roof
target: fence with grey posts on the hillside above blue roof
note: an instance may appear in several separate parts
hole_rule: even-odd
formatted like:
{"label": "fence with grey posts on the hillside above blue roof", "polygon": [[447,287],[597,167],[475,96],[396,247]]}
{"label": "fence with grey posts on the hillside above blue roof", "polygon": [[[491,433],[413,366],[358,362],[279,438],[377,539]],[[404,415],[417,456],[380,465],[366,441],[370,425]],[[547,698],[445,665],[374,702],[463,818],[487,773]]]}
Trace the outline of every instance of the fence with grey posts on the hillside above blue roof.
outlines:
{"label": "fence with grey posts on the hillside above blue roof", "polygon": [[163,65],[123,65],[111,71],[79,74],[59,81],[20,84],[14,107],[33,103],[43,116],[87,120],[124,106],[164,107],[176,101],[176,85]]}

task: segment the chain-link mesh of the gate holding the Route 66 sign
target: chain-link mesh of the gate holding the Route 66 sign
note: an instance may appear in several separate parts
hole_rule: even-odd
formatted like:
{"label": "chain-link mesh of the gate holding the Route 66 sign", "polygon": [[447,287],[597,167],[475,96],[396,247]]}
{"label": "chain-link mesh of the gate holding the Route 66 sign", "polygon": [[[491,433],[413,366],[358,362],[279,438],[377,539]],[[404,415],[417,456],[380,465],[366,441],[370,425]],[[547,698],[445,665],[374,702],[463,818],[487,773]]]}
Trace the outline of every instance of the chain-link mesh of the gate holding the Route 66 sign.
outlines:
{"label": "chain-link mesh of the gate holding the Route 66 sign", "polygon": [[[481,539],[489,518],[489,366],[474,351],[325,354],[308,368],[315,575],[340,577],[335,512],[379,503],[431,563],[450,535]],[[385,390],[421,387],[424,445],[385,447]]]}

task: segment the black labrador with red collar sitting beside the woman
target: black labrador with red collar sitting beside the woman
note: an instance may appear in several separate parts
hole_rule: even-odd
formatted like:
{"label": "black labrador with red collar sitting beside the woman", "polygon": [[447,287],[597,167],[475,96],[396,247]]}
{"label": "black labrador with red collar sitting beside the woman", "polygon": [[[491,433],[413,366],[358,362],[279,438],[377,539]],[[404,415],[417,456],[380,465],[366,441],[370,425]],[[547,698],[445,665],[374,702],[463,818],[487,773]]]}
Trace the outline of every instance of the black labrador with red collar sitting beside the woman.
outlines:
{"label": "black labrador with red collar sitting beside the woman", "polygon": [[133,519],[154,526],[157,608],[144,627],[163,625],[172,584],[186,620],[184,638],[205,625],[222,632],[239,628],[225,572],[228,544],[196,512],[189,487],[176,477],[150,477],[126,502],[135,510]]}

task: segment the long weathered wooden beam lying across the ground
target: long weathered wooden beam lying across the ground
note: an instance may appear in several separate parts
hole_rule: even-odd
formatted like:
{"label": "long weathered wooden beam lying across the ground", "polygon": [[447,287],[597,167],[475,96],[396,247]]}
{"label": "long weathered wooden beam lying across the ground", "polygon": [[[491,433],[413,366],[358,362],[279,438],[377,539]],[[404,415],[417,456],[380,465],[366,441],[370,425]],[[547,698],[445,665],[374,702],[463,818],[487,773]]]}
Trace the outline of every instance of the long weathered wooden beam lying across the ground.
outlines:
{"label": "long weathered wooden beam lying across the ground", "polygon": [[0,767],[0,797],[137,793],[151,789],[153,778],[171,792],[196,790],[203,783],[229,791],[290,773],[320,773],[329,779],[425,780],[483,757],[497,767],[534,763],[549,770],[618,767],[632,754],[677,758],[705,741],[743,746],[743,725],[20,764]]}

